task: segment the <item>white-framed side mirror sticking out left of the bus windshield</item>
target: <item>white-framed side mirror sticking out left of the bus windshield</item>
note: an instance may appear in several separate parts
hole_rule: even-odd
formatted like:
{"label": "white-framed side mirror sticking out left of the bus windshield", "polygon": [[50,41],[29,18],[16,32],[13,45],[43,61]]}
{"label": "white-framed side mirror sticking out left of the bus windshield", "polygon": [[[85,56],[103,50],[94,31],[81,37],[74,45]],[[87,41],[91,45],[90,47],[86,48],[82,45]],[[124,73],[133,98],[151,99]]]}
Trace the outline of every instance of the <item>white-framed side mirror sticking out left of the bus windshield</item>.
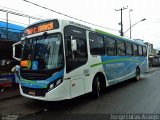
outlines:
{"label": "white-framed side mirror sticking out left of the bus windshield", "polygon": [[[14,59],[16,59],[16,60],[18,60],[18,61],[20,61],[21,60],[21,58],[18,58],[18,57],[16,57],[17,56],[17,49],[19,48],[21,46],[21,42],[17,42],[17,43],[14,43],[13,45],[12,45],[12,47],[13,47],[13,58]],[[19,50],[20,51],[20,50]],[[20,53],[19,53],[20,54]],[[20,57],[20,55],[18,55],[19,57]]]}

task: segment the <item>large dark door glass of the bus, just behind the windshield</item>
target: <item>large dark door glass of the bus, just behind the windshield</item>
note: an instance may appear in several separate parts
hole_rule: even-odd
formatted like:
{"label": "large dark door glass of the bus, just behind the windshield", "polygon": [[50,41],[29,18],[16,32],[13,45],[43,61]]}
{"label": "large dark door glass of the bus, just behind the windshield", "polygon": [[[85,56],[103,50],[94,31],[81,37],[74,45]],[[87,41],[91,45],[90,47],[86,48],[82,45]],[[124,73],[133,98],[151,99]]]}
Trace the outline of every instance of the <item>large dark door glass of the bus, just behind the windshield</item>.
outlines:
{"label": "large dark door glass of the bus, just behind the windshield", "polygon": [[[84,65],[87,62],[86,31],[82,28],[67,26],[65,33],[66,71],[70,71]],[[77,50],[72,51],[71,40],[76,40]]]}

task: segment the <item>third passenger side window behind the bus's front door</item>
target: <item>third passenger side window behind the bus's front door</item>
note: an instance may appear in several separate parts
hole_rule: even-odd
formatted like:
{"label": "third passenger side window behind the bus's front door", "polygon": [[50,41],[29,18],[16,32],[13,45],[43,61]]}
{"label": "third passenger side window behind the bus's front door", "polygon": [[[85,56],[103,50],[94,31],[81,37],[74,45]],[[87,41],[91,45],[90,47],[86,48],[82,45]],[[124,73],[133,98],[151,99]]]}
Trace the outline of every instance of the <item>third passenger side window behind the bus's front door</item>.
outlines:
{"label": "third passenger side window behind the bus's front door", "polygon": [[125,44],[122,41],[117,40],[117,53],[120,56],[125,55]]}

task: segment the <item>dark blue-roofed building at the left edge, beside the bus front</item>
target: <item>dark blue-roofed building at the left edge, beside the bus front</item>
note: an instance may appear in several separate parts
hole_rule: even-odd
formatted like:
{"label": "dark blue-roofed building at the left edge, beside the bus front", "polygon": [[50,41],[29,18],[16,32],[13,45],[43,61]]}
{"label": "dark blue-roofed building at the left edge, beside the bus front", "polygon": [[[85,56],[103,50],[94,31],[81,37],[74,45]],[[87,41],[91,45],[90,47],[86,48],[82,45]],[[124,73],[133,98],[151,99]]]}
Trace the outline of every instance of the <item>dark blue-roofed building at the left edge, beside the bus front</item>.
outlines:
{"label": "dark blue-roofed building at the left edge, beside the bus front", "polygon": [[0,21],[0,75],[8,74],[14,64],[12,45],[21,37],[23,26]]}

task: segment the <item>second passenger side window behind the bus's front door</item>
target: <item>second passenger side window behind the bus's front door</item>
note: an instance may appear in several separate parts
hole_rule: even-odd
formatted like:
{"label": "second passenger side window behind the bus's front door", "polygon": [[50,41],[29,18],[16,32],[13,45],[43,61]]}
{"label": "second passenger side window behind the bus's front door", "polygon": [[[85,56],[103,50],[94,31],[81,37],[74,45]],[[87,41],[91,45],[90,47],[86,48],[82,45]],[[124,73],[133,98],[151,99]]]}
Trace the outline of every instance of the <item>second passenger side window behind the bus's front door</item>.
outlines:
{"label": "second passenger side window behind the bus's front door", "polygon": [[106,53],[108,56],[116,55],[116,40],[106,38]]}

